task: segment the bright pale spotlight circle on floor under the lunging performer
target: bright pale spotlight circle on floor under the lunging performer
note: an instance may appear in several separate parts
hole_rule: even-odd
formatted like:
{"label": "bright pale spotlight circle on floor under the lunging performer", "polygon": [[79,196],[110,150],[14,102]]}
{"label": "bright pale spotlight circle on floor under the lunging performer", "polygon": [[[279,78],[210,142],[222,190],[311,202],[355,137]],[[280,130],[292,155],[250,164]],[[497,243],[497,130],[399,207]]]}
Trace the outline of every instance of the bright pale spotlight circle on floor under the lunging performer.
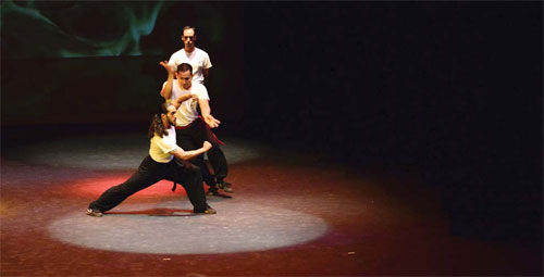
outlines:
{"label": "bright pale spotlight circle on floor under the lunging performer", "polygon": [[121,204],[102,217],[85,211],[53,222],[54,239],[92,249],[213,254],[282,248],[323,236],[323,219],[258,203],[211,202],[218,214],[195,215],[187,202]]}

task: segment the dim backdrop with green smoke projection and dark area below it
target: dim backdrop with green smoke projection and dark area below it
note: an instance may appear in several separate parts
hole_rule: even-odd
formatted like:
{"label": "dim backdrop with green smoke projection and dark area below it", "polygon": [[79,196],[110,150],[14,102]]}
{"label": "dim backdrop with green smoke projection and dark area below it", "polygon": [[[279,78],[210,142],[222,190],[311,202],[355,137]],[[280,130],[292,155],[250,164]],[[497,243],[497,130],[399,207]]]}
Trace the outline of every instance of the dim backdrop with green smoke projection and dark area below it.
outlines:
{"label": "dim backdrop with green smoke projection and dark area below it", "polygon": [[236,4],[2,1],[0,11],[2,125],[147,121],[165,79],[158,63],[183,47],[185,25],[212,58],[215,102],[226,93],[215,88],[242,86],[221,66],[242,66],[242,50],[224,49],[227,29],[242,36]]}

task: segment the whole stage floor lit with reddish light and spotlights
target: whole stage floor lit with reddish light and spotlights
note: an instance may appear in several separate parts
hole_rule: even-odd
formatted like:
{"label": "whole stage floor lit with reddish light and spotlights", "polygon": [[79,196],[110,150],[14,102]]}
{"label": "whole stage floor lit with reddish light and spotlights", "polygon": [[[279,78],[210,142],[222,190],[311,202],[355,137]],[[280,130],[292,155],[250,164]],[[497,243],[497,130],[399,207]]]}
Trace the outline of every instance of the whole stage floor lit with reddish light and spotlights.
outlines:
{"label": "whole stage floor lit with reddish light and spotlights", "polygon": [[161,181],[103,217],[88,203],[131,176],[144,133],[10,144],[1,159],[1,276],[539,275],[526,248],[449,235],[441,197],[407,172],[355,172],[225,139],[232,198],[193,215]]}

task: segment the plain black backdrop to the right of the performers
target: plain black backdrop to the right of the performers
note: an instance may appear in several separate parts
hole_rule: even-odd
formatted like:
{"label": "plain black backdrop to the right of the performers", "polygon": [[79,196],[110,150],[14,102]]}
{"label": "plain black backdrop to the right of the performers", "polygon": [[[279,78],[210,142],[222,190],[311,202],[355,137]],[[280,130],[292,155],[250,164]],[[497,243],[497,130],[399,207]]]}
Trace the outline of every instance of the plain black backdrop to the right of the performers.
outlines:
{"label": "plain black backdrop to the right of the performers", "polygon": [[413,166],[453,234],[542,250],[541,2],[262,7],[245,5],[254,133],[358,169]]}

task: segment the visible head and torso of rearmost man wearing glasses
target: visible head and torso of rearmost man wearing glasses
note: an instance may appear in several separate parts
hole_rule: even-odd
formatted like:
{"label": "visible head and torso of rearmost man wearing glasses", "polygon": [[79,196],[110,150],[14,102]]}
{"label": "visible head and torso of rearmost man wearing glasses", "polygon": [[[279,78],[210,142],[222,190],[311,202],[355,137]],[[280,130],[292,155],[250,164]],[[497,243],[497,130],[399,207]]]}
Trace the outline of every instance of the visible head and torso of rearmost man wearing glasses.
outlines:
{"label": "visible head and torso of rearmost man wearing glasses", "polygon": [[170,56],[169,65],[175,71],[182,63],[193,66],[193,81],[203,85],[208,80],[211,61],[206,51],[195,46],[197,34],[195,27],[185,26],[182,33],[183,49]]}

